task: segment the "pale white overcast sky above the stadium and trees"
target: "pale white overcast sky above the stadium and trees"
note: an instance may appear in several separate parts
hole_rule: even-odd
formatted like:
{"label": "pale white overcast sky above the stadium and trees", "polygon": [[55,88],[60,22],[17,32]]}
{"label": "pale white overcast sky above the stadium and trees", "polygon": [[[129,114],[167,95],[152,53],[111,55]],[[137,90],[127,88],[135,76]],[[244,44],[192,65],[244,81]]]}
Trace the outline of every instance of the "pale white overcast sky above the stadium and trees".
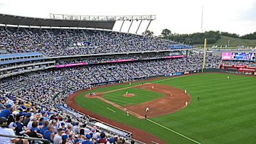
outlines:
{"label": "pale white overcast sky above the stadium and trees", "polygon": [[[223,31],[245,35],[256,31],[256,0],[0,0],[0,13],[36,18],[50,18],[50,13],[80,16],[139,16],[156,15],[149,31],[161,35],[165,28],[171,33]],[[131,22],[125,21],[122,32]],[[142,21],[138,34],[145,31],[149,21]],[[119,31],[117,21],[113,31]],[[136,33],[139,21],[134,21],[129,33]]]}

